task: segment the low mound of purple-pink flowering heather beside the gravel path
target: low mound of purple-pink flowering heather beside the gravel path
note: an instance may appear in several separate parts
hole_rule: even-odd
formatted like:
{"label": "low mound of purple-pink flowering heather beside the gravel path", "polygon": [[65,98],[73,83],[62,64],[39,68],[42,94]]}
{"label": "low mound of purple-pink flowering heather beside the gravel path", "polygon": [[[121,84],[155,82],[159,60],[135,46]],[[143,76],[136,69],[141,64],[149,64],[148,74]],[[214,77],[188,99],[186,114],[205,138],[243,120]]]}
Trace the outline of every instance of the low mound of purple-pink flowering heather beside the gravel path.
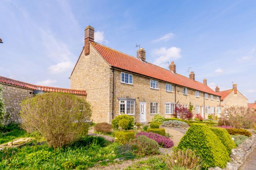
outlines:
{"label": "low mound of purple-pink flowering heather beside the gravel path", "polygon": [[164,148],[170,148],[170,147],[173,147],[174,145],[173,141],[170,138],[166,136],[161,136],[159,134],[155,134],[152,132],[140,132],[136,134],[135,137],[141,136],[141,135],[147,136],[149,139],[155,140],[159,144],[159,146]]}

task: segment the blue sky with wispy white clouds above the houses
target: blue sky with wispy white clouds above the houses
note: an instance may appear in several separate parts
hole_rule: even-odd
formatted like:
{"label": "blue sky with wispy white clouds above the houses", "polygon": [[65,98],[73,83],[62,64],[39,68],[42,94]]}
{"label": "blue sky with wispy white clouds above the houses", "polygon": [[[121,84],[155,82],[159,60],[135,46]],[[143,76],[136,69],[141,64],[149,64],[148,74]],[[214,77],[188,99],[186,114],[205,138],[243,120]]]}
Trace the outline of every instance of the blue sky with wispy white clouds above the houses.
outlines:
{"label": "blue sky with wispy white clouds above the houses", "polygon": [[69,88],[83,48],[84,28],[95,40],[211,88],[238,85],[256,100],[256,1],[0,1],[0,76]]}

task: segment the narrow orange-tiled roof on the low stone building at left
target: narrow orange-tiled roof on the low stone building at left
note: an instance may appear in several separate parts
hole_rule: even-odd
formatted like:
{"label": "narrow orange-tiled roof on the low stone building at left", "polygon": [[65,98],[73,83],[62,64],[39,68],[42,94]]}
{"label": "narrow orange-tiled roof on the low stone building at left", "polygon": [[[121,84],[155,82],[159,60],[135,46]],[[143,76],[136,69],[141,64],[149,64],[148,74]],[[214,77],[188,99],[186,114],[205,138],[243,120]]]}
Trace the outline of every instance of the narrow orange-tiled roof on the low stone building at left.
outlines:
{"label": "narrow orange-tiled roof on the low stone building at left", "polygon": [[71,93],[71,94],[87,95],[85,90],[63,89],[63,88],[57,88],[57,87],[33,85],[33,84],[29,84],[26,82],[14,80],[14,79],[2,77],[2,76],[0,76],[0,82],[5,84],[20,86],[20,87],[28,88],[32,90],[42,90],[45,92],[64,92],[64,93]]}

